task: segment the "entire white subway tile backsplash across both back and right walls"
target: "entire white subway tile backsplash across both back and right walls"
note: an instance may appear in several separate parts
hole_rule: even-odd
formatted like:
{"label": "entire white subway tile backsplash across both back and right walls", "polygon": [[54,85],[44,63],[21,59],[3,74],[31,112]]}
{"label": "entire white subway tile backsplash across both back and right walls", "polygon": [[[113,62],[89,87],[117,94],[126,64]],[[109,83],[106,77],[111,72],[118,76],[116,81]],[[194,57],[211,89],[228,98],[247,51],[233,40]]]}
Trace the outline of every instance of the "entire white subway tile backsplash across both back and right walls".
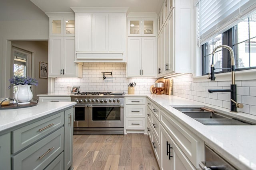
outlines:
{"label": "entire white subway tile backsplash across both back and right walls", "polygon": [[[111,72],[103,80],[101,72]],[[157,78],[126,78],[125,63],[84,63],[83,78],[55,78],[55,93],[67,93],[67,86],[80,86],[84,91],[124,91],[128,92],[130,82],[136,82],[135,93],[150,94],[150,86]],[[192,74],[174,77],[174,96],[188,98],[230,109],[230,93],[215,92],[208,89],[229,89],[231,81],[193,82]],[[64,87],[60,87],[60,86]],[[237,102],[244,104],[238,111],[256,115],[256,80],[237,80]]]}

